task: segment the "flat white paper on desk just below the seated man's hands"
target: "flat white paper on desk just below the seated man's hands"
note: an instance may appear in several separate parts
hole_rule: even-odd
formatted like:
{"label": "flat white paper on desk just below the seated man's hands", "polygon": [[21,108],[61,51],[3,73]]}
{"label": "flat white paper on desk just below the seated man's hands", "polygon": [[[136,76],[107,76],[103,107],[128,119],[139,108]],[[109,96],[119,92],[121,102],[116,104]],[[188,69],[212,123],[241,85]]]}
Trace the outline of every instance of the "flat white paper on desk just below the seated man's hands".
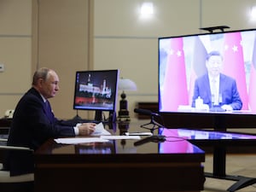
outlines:
{"label": "flat white paper on desk just below the seated man's hands", "polygon": [[105,143],[109,142],[107,139],[99,137],[72,137],[72,138],[57,138],[56,143],[62,144],[79,144],[79,143]]}

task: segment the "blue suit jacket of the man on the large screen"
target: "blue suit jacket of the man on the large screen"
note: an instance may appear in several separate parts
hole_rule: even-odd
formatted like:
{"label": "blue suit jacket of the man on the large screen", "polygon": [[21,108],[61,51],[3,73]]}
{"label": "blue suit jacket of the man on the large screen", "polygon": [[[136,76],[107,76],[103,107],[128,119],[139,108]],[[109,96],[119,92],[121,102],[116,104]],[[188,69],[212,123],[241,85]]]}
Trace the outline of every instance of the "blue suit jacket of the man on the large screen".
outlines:
{"label": "blue suit jacket of the man on the large screen", "polygon": [[[236,87],[236,80],[220,74],[219,79],[219,93],[222,95],[222,103],[230,104],[234,110],[240,110],[242,107],[241,98]],[[204,104],[207,104],[209,108],[212,107],[212,94],[210,88],[210,82],[208,74],[195,80],[194,96],[192,101],[192,107],[195,108],[195,99],[200,96]]]}

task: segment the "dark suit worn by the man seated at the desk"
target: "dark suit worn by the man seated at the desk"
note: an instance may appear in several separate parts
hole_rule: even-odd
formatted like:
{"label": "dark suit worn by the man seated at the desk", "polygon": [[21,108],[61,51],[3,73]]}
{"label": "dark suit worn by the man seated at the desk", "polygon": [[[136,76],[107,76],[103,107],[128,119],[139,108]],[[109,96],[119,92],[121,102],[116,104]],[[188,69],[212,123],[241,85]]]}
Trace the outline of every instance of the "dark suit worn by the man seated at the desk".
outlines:
{"label": "dark suit worn by the man seated at the desk", "polygon": [[[28,90],[15,108],[7,144],[37,150],[51,137],[75,136],[73,125],[56,119],[47,105],[37,90]],[[11,175],[33,172],[33,168],[33,154],[28,152],[11,151],[4,162]]]}

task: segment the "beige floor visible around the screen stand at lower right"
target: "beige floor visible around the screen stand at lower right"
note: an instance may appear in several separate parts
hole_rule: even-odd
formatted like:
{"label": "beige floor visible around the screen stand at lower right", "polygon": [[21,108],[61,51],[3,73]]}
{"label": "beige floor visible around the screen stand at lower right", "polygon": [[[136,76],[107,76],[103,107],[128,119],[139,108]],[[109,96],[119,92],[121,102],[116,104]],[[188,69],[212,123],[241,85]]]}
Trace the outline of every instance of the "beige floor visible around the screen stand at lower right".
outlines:
{"label": "beige floor visible around the screen stand at lower right", "polygon": [[[204,163],[205,172],[212,172],[212,155],[207,154]],[[226,157],[226,174],[256,178],[256,153],[255,154],[228,154]],[[224,192],[236,181],[207,177],[202,192]],[[255,192],[256,183],[237,192]]]}

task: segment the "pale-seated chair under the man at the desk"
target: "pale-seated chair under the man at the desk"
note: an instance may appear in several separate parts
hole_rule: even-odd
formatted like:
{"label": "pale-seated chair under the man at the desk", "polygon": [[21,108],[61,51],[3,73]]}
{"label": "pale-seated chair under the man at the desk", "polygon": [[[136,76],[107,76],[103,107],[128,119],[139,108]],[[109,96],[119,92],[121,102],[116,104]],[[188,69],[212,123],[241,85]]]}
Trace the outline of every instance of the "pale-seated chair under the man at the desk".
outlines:
{"label": "pale-seated chair under the man at the desk", "polygon": [[[1,143],[6,143],[7,139],[0,138]],[[0,145],[0,152],[3,156],[4,151],[7,150],[20,150],[20,151],[31,151],[33,150],[30,148],[24,147],[15,147],[15,146],[6,146]],[[34,183],[34,174],[28,173],[19,176],[12,176],[10,177],[9,171],[4,171],[3,164],[1,163],[3,160],[0,159],[0,190],[4,192],[32,192],[33,191],[33,183]]]}

